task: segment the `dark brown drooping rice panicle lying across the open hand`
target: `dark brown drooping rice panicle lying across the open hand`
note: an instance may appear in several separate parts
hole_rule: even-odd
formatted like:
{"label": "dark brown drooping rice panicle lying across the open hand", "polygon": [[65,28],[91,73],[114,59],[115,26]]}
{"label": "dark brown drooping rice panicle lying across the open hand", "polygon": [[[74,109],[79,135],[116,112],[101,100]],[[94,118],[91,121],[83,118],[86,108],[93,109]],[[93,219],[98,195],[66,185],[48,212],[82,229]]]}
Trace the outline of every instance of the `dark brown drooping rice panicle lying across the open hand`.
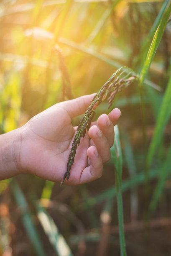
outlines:
{"label": "dark brown drooping rice panicle lying across the open hand", "polygon": [[72,164],[74,163],[77,146],[79,146],[81,138],[84,138],[86,129],[87,131],[89,130],[91,121],[94,117],[94,110],[105,99],[107,99],[108,108],[110,108],[117,92],[120,92],[124,87],[132,84],[135,79],[138,79],[138,77],[132,69],[129,69],[128,67],[122,67],[120,69],[117,69],[117,71],[112,74],[107,82],[101,87],[99,92],[94,96],[91,105],[89,105],[85,115],[83,116],[79,123],[79,126],[77,127],[77,134],[72,143],[72,148],[67,163],[67,170],[64,174],[63,180],[61,181],[61,185],[64,183],[65,179],[69,179],[70,169]]}

